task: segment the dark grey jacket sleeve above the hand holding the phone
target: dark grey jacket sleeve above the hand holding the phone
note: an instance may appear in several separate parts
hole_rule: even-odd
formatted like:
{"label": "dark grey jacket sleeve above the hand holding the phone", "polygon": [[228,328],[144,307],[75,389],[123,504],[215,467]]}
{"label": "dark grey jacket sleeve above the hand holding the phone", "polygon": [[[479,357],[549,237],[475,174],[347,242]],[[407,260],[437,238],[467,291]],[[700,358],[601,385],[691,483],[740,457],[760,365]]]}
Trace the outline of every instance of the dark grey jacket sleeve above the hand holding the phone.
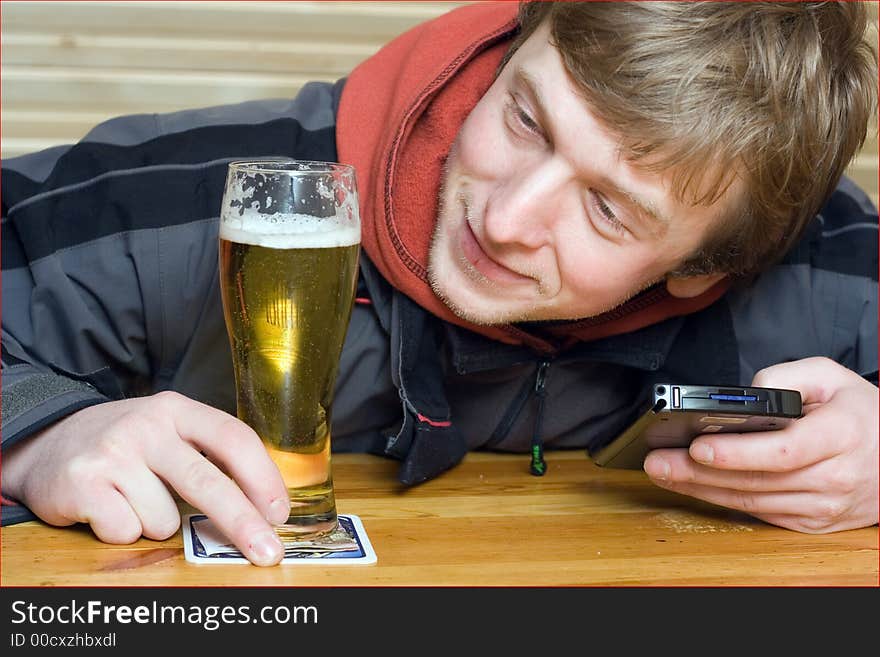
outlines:
{"label": "dark grey jacket sleeve above the hand holding the phone", "polygon": [[877,385],[877,227],[868,196],[843,178],[785,259],[728,295],[740,383],[826,356]]}

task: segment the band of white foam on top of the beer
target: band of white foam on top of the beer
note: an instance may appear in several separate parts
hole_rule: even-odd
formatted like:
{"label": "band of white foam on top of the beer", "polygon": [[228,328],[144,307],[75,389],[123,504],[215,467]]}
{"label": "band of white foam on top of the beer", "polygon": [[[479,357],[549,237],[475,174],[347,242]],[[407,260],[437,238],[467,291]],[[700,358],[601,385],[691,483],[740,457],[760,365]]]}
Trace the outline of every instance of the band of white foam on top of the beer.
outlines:
{"label": "band of white foam on top of the beer", "polygon": [[360,244],[360,228],[337,217],[308,214],[226,214],[220,237],[230,242],[270,249],[329,249]]}

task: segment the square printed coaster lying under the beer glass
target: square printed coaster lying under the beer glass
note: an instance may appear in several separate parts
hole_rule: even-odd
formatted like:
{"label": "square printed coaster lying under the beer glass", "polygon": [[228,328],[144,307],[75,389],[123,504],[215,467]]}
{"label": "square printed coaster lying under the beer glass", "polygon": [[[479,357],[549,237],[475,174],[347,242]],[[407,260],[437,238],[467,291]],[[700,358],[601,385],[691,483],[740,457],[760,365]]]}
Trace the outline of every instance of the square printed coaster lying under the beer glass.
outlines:
{"label": "square printed coaster lying under the beer glass", "polygon": [[[277,530],[284,545],[282,564],[376,563],[376,553],[358,516],[340,514],[334,531],[314,539],[296,540],[283,525]],[[181,533],[184,556],[191,563],[250,563],[204,514],[185,516]]]}

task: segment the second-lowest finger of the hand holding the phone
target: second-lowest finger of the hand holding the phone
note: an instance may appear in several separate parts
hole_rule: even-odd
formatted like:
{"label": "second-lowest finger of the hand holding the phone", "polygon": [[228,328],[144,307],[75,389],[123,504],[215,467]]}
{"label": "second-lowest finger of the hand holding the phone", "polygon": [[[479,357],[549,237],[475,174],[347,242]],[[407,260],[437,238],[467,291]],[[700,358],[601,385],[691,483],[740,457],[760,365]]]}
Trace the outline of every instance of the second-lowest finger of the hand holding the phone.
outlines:
{"label": "second-lowest finger of the hand holding the phone", "polygon": [[660,488],[694,497],[728,509],[744,511],[750,515],[797,515],[834,521],[845,508],[834,498],[814,493],[781,492],[763,493],[716,488],[700,484],[656,482]]}

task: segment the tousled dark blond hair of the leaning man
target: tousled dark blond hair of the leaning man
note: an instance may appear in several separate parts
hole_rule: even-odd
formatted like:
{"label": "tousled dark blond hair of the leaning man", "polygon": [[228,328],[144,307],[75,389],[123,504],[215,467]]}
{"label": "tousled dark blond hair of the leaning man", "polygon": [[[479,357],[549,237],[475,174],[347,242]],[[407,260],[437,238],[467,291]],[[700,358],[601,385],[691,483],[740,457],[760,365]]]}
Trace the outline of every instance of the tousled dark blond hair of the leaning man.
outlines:
{"label": "tousled dark blond hair of the leaning man", "polygon": [[[743,192],[675,273],[750,274],[799,238],[864,143],[877,55],[858,2],[527,2],[623,155],[679,200]],[[506,61],[506,59],[505,59]],[[737,189],[740,185],[737,186]]]}

